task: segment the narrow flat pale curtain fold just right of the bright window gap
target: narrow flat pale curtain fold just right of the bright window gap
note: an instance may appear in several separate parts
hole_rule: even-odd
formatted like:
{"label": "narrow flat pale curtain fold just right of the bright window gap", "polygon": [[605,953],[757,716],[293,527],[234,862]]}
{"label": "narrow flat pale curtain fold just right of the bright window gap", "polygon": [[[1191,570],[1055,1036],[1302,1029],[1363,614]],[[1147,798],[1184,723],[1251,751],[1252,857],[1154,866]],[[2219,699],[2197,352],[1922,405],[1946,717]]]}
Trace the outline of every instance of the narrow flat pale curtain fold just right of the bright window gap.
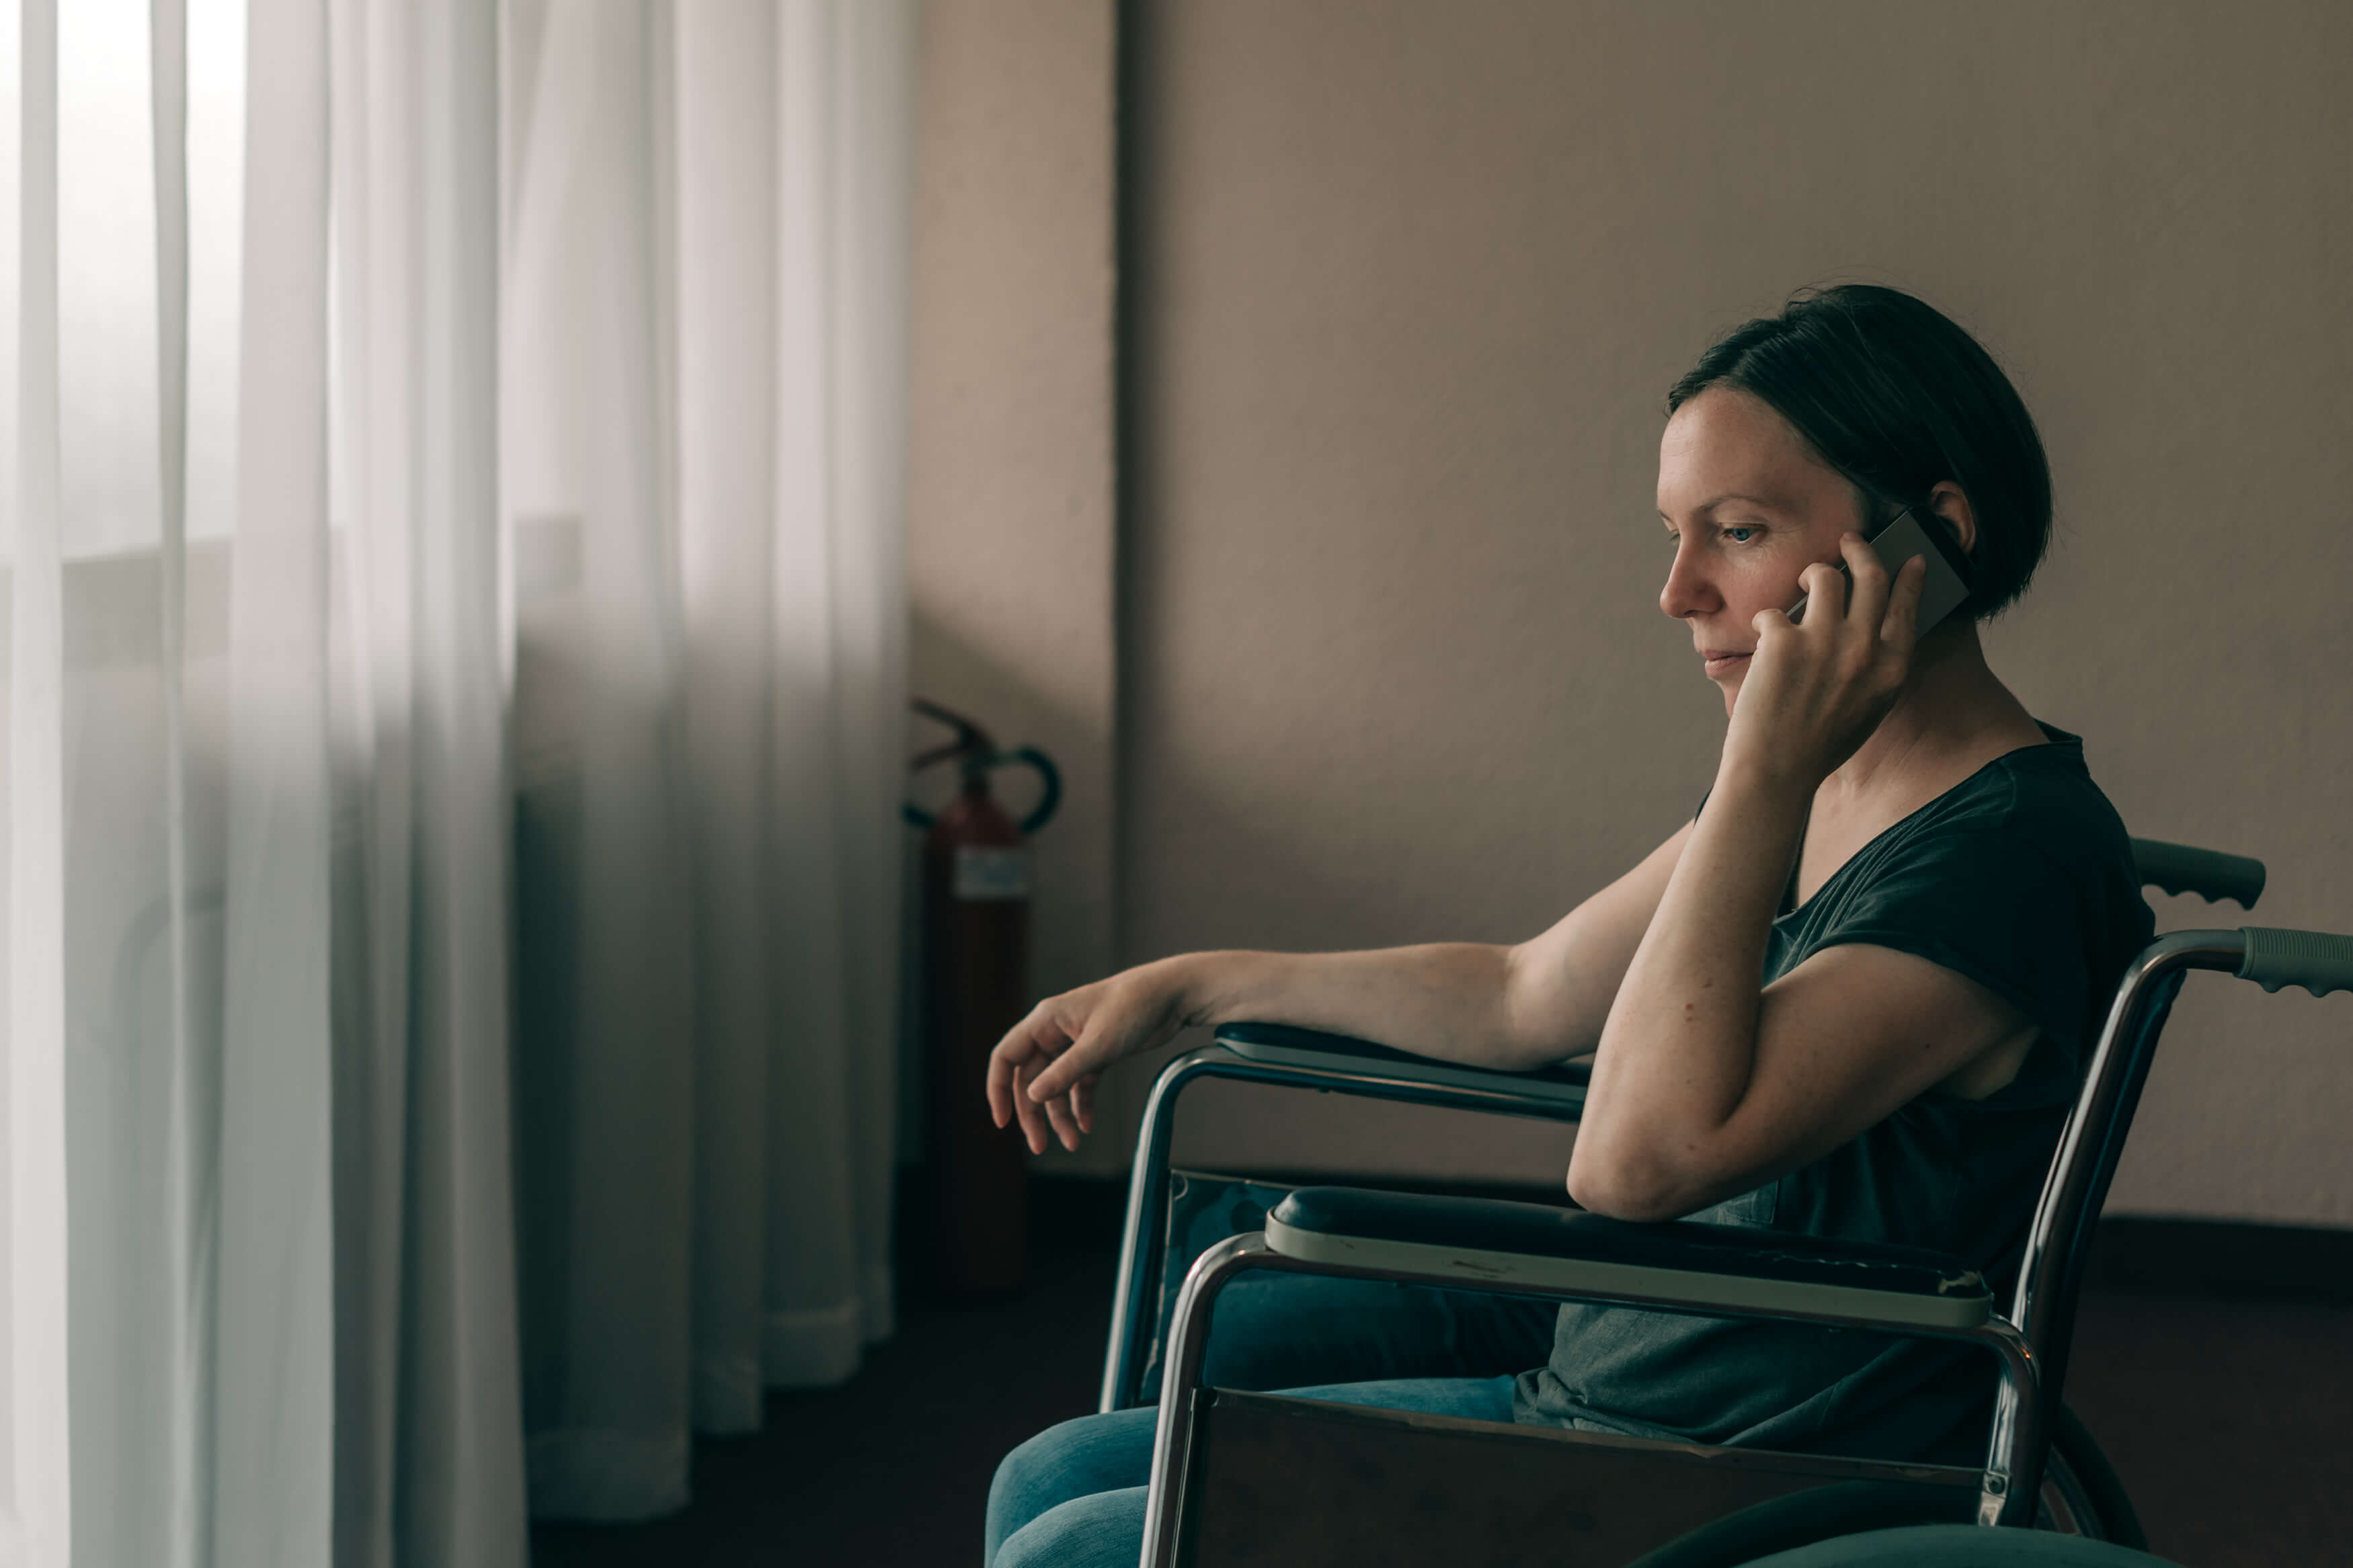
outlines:
{"label": "narrow flat pale curtain fold just right of the bright window gap", "polygon": [[207,1371],[212,1561],[256,1568],[332,1552],[325,54],[322,0],[249,0]]}

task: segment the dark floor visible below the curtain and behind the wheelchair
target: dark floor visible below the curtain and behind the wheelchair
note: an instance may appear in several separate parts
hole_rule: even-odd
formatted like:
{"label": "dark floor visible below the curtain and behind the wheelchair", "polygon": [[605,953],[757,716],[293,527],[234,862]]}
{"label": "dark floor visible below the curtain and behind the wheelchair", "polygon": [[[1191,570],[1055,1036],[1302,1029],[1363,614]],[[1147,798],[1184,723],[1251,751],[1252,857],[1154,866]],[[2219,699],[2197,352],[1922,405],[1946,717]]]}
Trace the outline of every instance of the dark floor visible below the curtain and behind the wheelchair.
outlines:
{"label": "dark floor visible below the curtain and behind the wheelchair", "polygon": [[[1007,1448],[1094,1408],[1111,1192],[1035,1225],[1021,1298],[911,1300],[840,1389],[772,1394],[767,1432],[696,1443],[694,1505],[645,1526],[539,1526],[536,1568],[946,1568],[976,1561]],[[1075,1187],[1075,1185],[1068,1185]],[[1047,1215],[1040,1215],[1045,1220]],[[2068,1403],[2188,1568],[2353,1563],[2353,1305],[2094,1293]]]}

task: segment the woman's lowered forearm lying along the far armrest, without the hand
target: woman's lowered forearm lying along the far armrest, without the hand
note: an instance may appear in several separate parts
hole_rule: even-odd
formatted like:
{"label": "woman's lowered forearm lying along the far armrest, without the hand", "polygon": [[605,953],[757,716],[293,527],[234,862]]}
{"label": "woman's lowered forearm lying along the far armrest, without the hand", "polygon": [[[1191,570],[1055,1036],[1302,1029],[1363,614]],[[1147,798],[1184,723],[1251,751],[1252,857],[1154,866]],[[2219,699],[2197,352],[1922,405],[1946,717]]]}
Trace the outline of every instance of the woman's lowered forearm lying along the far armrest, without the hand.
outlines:
{"label": "woman's lowered forearm lying along the far armrest, without the hand", "polygon": [[1560,1056],[1508,1011],[1511,950],[1428,943],[1374,952],[1186,952],[1160,959],[1193,1025],[1289,1023],[1473,1067]]}

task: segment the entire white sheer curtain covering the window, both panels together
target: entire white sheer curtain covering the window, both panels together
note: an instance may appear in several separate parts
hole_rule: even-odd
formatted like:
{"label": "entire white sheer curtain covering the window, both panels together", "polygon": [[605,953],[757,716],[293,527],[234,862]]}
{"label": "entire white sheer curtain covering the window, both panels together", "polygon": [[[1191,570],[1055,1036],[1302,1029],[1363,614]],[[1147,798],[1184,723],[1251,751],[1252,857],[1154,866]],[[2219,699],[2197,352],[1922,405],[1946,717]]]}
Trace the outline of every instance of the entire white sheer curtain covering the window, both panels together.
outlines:
{"label": "entire white sheer curtain covering the window, both panels together", "polygon": [[908,2],[0,0],[0,1563],[887,1331]]}

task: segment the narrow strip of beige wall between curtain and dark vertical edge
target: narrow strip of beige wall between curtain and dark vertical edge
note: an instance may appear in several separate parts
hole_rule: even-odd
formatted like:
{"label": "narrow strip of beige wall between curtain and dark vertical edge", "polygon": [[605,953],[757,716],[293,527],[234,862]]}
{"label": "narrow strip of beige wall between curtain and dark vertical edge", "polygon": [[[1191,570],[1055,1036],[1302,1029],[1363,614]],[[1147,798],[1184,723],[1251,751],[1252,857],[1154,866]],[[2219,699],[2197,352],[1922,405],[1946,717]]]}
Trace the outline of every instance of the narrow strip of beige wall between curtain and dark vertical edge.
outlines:
{"label": "narrow strip of beige wall between curtain and dark vertical edge", "polygon": [[[1111,0],[929,0],[922,19],[913,686],[1064,771],[1035,844],[1040,990],[1113,966],[1111,45]],[[918,722],[911,745],[944,736]],[[1000,778],[1026,811],[1028,773]],[[918,795],[951,788],[934,771]]]}

